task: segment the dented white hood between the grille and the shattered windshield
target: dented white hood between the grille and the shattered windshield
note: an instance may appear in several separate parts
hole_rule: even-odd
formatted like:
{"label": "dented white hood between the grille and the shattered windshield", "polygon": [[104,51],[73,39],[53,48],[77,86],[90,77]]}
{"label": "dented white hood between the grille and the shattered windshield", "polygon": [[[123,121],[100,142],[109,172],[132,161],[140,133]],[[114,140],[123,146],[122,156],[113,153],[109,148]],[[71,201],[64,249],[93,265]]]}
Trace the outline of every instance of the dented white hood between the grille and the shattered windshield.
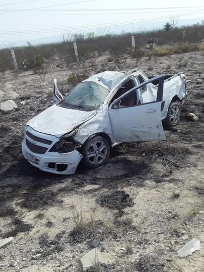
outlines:
{"label": "dented white hood between the grille and the shattered windshield", "polygon": [[82,111],[53,105],[28,121],[27,125],[38,132],[60,137],[91,119],[95,114],[96,110]]}

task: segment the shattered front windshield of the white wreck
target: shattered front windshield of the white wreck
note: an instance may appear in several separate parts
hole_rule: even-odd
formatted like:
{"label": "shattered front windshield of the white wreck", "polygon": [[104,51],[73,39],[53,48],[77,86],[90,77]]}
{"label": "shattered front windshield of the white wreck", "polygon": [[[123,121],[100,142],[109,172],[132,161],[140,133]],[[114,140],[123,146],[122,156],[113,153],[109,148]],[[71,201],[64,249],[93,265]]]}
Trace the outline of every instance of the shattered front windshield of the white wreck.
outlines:
{"label": "shattered front windshield of the white wreck", "polygon": [[107,97],[109,91],[93,81],[79,83],[68,93],[61,104],[67,104],[70,108],[81,110],[93,110],[99,108]]}

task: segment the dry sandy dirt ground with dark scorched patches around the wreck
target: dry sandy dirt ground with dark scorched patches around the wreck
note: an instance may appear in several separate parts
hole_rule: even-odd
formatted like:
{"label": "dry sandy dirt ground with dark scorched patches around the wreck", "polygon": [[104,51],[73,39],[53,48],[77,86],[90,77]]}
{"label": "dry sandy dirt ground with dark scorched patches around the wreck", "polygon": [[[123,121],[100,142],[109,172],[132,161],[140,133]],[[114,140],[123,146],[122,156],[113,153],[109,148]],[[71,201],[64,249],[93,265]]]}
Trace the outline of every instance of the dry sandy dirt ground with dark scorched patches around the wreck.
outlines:
{"label": "dry sandy dirt ground with dark scorched patches around the wreck", "polygon": [[[187,75],[181,122],[164,127],[165,142],[119,145],[105,165],[70,176],[30,165],[21,142],[26,122],[51,106],[53,79],[60,89],[72,69],[53,67],[44,83],[31,71],[6,74],[0,102],[19,96],[17,109],[0,112],[0,238],[14,237],[0,248],[0,271],[79,272],[94,239],[105,262],[89,271],[204,271],[204,53],[143,58],[139,69]],[[193,238],[201,250],[179,258]]]}

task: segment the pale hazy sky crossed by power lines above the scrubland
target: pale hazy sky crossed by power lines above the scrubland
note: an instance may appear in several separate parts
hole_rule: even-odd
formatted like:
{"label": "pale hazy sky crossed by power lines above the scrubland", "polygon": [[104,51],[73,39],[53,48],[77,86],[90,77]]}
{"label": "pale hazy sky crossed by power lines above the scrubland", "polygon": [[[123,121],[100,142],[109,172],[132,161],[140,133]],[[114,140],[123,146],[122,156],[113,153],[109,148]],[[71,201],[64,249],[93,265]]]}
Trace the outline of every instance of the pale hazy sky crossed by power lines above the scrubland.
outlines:
{"label": "pale hazy sky crossed by power lines above the scrubland", "polygon": [[69,32],[161,29],[170,18],[202,23],[204,1],[0,0],[0,46]]}

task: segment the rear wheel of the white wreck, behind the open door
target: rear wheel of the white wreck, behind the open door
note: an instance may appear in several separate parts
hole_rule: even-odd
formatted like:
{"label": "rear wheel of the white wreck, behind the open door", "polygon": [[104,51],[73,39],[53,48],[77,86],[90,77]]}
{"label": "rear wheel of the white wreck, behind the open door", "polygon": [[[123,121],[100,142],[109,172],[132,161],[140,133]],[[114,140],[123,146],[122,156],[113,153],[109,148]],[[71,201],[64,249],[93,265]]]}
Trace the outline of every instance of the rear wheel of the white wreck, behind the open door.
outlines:
{"label": "rear wheel of the white wreck, behind the open door", "polygon": [[178,103],[171,103],[168,108],[165,123],[168,126],[175,126],[180,121],[181,109]]}

